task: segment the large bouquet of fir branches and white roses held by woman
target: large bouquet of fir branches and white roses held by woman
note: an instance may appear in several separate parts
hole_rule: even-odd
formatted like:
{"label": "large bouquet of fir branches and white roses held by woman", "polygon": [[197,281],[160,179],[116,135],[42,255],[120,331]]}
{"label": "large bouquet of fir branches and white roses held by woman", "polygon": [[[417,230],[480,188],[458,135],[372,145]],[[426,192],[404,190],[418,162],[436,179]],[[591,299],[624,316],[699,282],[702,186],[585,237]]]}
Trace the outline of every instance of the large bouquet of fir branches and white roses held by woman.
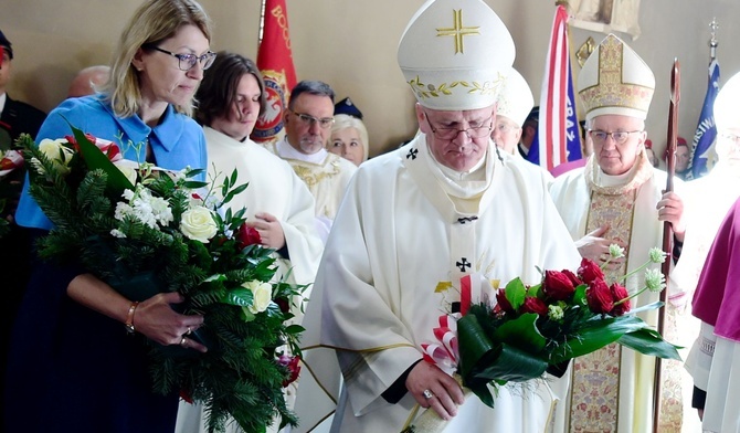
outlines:
{"label": "large bouquet of fir branches and white roses held by woman", "polygon": [[155,391],[204,403],[209,431],[223,431],[230,416],[249,432],[277,416],[281,427],[296,425],[283,388],[298,373],[303,328],[290,325],[290,305],[305,287],[275,275],[273,250],[258,245],[245,210],[221,209],[246,184],[234,184],[234,171],[219,202],[214,187],[192,180],[201,170],[126,161],[115,144],[72,129],[73,137],[38,147],[21,140],[31,194],[54,223],[40,255],[78,257],[131,300],[179,292],[186,302],[175,308],[204,316],[191,337],[205,353],[142,340],[151,346]]}

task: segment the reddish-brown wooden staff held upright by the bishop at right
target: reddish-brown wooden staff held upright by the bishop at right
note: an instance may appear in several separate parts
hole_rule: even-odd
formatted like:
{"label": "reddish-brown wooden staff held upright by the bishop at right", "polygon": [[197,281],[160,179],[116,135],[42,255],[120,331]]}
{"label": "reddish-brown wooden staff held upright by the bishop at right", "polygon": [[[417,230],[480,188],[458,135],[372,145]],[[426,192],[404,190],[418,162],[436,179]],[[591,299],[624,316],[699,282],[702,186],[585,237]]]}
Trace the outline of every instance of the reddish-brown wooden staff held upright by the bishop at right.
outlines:
{"label": "reddish-brown wooden staff held upright by the bishop at right", "polygon": [[[678,101],[680,99],[680,64],[678,59],[674,60],[674,67],[670,71],[670,106],[668,107],[668,144],[667,144],[667,158],[666,158],[666,171],[668,172],[666,181],[666,191],[670,192],[674,190],[674,176],[676,175],[676,141],[678,138]],[[668,298],[668,284],[670,263],[673,262],[673,228],[668,221],[664,222],[663,225],[663,251],[665,251],[668,256],[665,262],[663,262],[663,275],[666,276],[666,288],[660,292],[660,302],[663,307],[658,309],[658,332],[663,335],[665,327],[665,316],[667,308],[667,298]],[[658,426],[660,424],[660,384],[662,384],[662,359],[655,358],[655,392],[653,394],[653,432],[658,433]]]}

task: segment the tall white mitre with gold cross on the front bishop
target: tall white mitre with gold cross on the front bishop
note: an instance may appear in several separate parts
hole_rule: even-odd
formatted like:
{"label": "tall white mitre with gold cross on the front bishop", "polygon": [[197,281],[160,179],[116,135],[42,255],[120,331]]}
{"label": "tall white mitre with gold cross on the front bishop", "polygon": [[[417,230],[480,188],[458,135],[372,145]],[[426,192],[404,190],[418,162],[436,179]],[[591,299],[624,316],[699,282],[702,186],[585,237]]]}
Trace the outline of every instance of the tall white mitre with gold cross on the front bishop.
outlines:
{"label": "tall white mitre with gold cross on the front bishop", "polygon": [[398,61],[416,101],[441,110],[496,103],[514,64],[514,40],[482,0],[430,0],[406,25]]}

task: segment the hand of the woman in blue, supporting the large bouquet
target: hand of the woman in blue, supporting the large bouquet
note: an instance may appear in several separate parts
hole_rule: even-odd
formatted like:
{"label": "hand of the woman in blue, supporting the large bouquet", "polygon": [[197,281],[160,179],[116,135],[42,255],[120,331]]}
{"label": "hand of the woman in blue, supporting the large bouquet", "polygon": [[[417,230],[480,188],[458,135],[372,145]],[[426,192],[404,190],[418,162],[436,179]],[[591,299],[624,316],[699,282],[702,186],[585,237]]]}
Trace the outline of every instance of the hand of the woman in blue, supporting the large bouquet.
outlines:
{"label": "hand of the woman in blue, supporting the large bouquet", "polygon": [[152,341],[162,346],[180,345],[184,348],[205,352],[208,348],[188,338],[203,325],[203,316],[181,315],[171,304],[180,304],[184,298],[179,293],[160,293],[140,303],[134,314],[134,327]]}

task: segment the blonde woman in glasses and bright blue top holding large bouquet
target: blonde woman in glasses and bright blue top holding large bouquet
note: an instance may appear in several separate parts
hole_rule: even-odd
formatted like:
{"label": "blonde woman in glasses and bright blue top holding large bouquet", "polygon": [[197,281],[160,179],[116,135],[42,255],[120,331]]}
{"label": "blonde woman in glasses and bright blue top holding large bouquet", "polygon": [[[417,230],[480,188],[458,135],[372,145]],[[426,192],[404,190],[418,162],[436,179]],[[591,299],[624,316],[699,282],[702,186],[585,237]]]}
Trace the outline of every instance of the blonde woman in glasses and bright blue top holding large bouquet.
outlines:
{"label": "blonde woman in glasses and bright blue top holding large bouquet", "polygon": [[[194,0],[146,0],[124,28],[102,92],[63,102],[38,140],[63,138],[72,124],[119,141],[126,159],[205,168],[203,133],[189,115],[215,55],[210,39],[210,20]],[[28,181],[15,219],[39,235],[52,229]],[[203,317],[171,308],[182,300],[160,293],[131,302],[84,268],[38,261],[13,330],[6,431],[173,431],[178,395],[152,391],[144,337],[205,351],[188,337]]]}

